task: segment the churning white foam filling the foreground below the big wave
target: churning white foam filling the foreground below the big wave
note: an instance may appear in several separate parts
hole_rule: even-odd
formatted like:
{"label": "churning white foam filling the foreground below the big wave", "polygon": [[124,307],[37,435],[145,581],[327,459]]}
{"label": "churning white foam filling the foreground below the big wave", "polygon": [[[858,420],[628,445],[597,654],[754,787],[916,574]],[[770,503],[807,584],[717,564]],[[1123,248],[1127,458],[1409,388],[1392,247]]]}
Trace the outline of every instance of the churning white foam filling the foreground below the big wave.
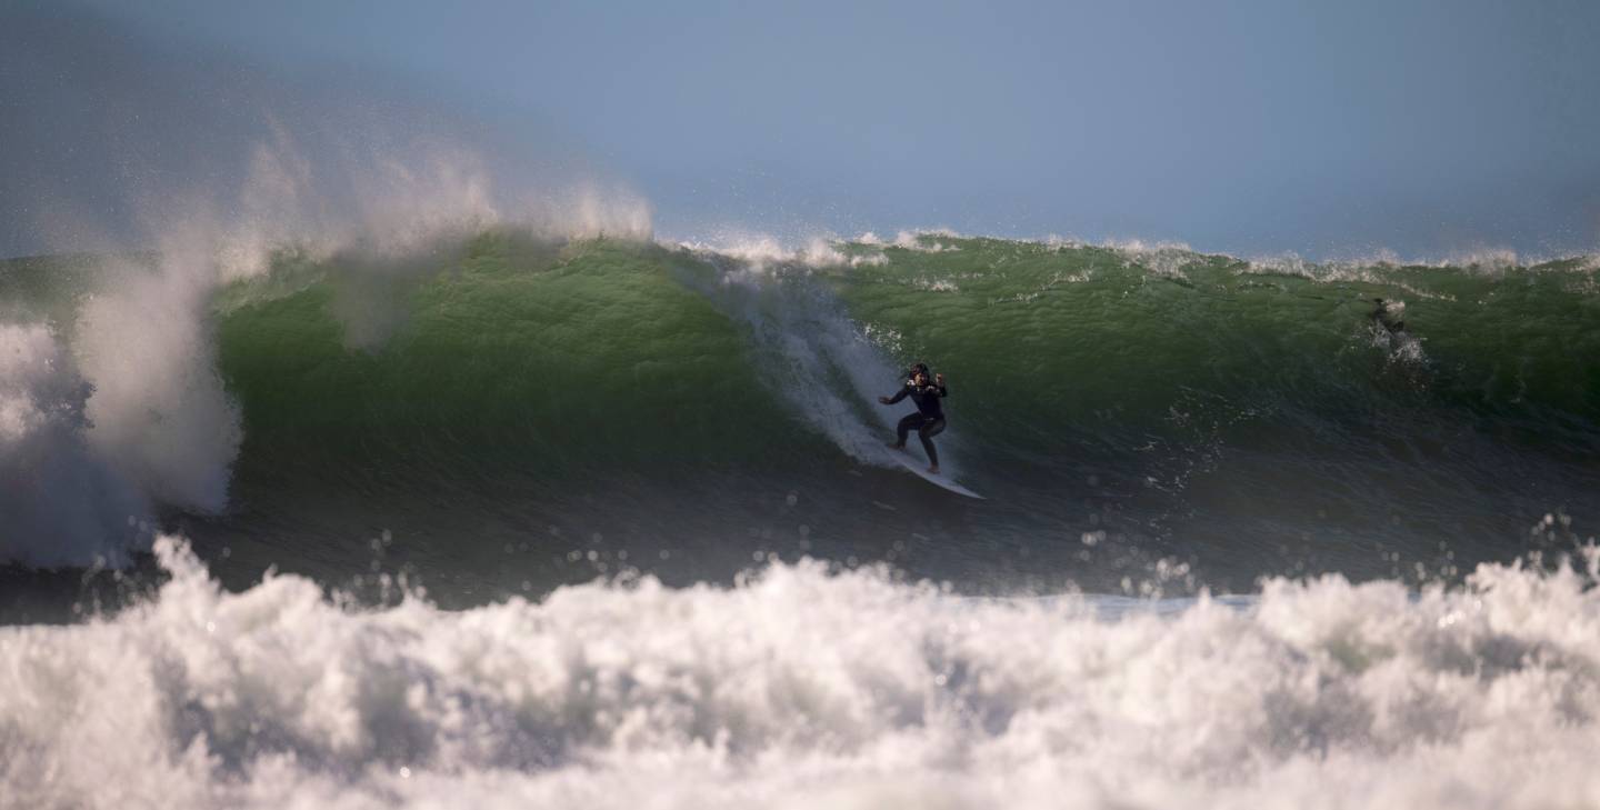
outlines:
{"label": "churning white foam filling the foreground below the big wave", "polygon": [[117,618],[3,628],[10,807],[1587,807],[1590,559],[1462,587],[963,599],[774,563],[442,612],[171,539]]}

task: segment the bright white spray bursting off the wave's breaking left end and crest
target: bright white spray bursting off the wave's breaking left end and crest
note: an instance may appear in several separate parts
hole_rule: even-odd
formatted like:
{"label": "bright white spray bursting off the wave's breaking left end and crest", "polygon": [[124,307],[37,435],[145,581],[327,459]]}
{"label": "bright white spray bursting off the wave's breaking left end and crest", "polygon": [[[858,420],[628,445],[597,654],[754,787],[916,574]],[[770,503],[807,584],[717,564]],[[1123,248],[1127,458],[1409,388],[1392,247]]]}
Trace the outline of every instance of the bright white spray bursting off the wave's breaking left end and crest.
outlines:
{"label": "bright white spray bursting off the wave's breaking left end and crest", "polygon": [[[274,251],[338,256],[370,277],[354,290],[381,293],[419,266],[437,271],[446,258],[435,245],[485,227],[650,237],[646,203],[606,202],[592,184],[526,194],[526,208],[510,210],[482,158],[437,142],[323,166],[274,126],[248,163],[234,192],[149,203],[147,250],[101,258],[106,282],[70,328],[0,325],[11,352],[0,365],[0,471],[18,482],[0,496],[0,562],[123,563],[149,543],[154,504],[227,507],[243,431],[218,370],[211,298],[269,272]],[[331,314],[349,346],[371,349],[403,319],[397,301],[346,296]]]}

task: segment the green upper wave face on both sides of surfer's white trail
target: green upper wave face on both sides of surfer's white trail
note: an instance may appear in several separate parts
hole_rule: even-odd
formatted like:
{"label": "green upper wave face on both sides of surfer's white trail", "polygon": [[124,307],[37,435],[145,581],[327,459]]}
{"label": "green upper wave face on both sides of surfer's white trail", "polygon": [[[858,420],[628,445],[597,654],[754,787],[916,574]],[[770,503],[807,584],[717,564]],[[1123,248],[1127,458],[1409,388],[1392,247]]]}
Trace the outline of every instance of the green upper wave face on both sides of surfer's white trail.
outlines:
{"label": "green upper wave face on both sides of surfer's white trail", "polygon": [[[870,261],[779,263],[754,283],[834,296],[886,363],[949,375],[968,435],[1018,456],[1418,408],[1592,442],[1600,415],[1600,285],[1576,259],[1272,269],[954,237],[842,250]],[[805,443],[773,431],[805,421],[762,384],[773,359],[750,323],[707,295],[747,269],[738,259],[491,232],[421,266],[280,256],[269,279],[219,296],[221,365],[253,443],[459,445],[549,464]],[[1403,333],[1374,322],[1373,298],[1403,303]]]}

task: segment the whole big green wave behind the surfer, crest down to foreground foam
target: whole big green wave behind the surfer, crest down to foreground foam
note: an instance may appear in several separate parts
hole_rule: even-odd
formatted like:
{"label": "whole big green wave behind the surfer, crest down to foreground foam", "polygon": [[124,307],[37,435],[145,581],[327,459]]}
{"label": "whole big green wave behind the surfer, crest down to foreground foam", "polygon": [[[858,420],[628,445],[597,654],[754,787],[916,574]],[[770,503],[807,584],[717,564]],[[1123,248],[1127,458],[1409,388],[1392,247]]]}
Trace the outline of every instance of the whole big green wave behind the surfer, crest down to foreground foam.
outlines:
{"label": "whole big green wave behind the surfer, crest down to foreground foam", "polygon": [[[1418,581],[1549,547],[1528,531],[1541,515],[1600,517],[1587,259],[1312,266],[944,234],[714,250],[494,227],[262,264],[181,339],[134,330],[198,359],[173,365],[186,375],[112,387],[106,413],[58,408],[101,434],[107,416],[141,426],[144,466],[114,466],[123,479],[155,464],[182,482],[186,458],[235,442],[226,493],[226,458],[181,488],[206,509],[138,488],[155,503],[139,525],[176,523],[235,586],[269,565],[323,581],[378,565],[459,607],[619,565],[728,579],[752,554],[979,591],[1128,589],[1155,560],[1224,589]],[[138,271],[51,271],[13,264],[10,298],[53,312],[93,368],[74,330],[99,346],[115,330],[72,303],[138,290],[118,282]],[[949,376],[946,466],[989,501],[886,458],[909,407],[875,397],[914,360]],[[189,378],[197,413],[227,419],[166,451],[165,432],[205,427],[160,407]],[[114,512],[126,527],[139,509]]]}

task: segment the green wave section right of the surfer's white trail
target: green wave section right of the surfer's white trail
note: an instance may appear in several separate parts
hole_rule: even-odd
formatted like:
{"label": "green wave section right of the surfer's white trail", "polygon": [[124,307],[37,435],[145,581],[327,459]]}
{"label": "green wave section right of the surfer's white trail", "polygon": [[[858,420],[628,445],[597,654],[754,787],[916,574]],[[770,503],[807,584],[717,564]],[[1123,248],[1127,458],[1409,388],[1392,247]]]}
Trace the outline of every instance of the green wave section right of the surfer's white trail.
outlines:
{"label": "green wave section right of the surfer's white trail", "polygon": [[[917,248],[851,247],[888,261],[840,274],[840,295],[901,354],[973,381],[966,418],[1019,442],[1162,434],[1222,402],[1258,424],[1424,408],[1590,439],[1600,416],[1600,271],[1582,259],[1285,267],[994,239]],[[1374,298],[1402,303],[1389,320],[1403,333],[1378,325]]]}

